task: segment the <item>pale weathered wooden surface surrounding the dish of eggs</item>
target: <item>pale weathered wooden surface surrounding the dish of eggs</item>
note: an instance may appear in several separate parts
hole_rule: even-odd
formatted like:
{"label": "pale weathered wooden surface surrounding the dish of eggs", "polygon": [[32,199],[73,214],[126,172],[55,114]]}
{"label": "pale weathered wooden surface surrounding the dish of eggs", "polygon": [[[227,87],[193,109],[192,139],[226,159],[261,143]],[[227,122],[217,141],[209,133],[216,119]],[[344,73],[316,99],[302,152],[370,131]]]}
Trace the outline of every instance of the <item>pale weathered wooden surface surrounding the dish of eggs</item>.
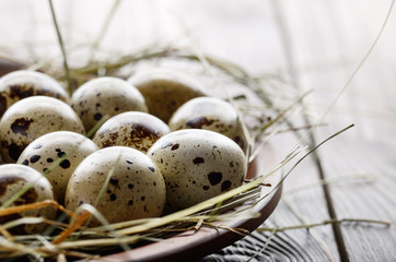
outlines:
{"label": "pale weathered wooden surface surrounding the dish of eggs", "polygon": [[[110,5],[97,1],[56,3],[69,47],[95,38]],[[102,49],[114,53],[135,50],[159,35],[161,39],[185,38],[187,29],[190,40],[205,52],[231,60],[251,72],[281,74],[298,92],[313,90],[306,105],[310,119],[315,121],[369,50],[391,1],[152,0],[121,4],[119,19],[110,24]],[[46,1],[0,2],[1,55],[59,55],[54,48],[56,40],[47,8]],[[395,32],[393,13],[373,52],[324,119],[326,126],[314,132],[316,140],[322,141],[350,123],[356,124],[318,150],[337,217],[378,219],[393,226],[341,224],[347,250],[342,259],[331,225],[325,225],[275,235],[255,231],[202,258],[202,262],[396,261]],[[53,49],[26,52],[25,47],[31,46],[26,43],[51,45]],[[75,59],[79,55],[70,57]],[[296,140],[282,134],[272,143],[281,158]],[[329,219],[318,177],[312,158],[299,165],[287,179],[282,201],[264,227]]]}

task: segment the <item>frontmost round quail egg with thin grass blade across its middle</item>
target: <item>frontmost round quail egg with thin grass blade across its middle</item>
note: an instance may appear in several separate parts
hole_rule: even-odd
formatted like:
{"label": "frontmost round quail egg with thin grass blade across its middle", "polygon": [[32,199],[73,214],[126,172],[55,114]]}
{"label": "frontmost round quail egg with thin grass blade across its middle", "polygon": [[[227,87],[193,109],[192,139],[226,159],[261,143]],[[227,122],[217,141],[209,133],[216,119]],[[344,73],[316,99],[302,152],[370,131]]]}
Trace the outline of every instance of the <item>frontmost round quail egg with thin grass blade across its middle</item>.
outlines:
{"label": "frontmost round quail egg with thin grass blade across its middle", "polygon": [[[97,202],[102,187],[106,188]],[[112,146],[92,153],[77,167],[67,187],[66,207],[73,211],[97,202],[98,212],[116,223],[160,216],[165,198],[163,177],[150,157],[130,147]]]}

